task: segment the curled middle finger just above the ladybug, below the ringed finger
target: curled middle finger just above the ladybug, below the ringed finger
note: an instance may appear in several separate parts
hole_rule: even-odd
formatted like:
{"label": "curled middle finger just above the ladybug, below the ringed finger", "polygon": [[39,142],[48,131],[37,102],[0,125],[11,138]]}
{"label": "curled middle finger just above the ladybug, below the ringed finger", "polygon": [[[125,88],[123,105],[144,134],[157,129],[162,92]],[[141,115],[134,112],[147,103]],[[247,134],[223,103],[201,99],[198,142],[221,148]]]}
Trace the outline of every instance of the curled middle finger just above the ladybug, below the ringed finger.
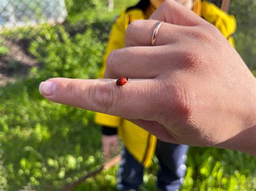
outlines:
{"label": "curled middle finger just above the ladybug, below the ringed finger", "polygon": [[[157,47],[128,47],[112,51],[106,62],[106,70],[104,77],[117,79],[120,76],[127,76],[140,79],[153,79],[166,70],[176,70],[180,68],[178,62],[185,63],[185,56],[180,52],[186,51],[184,47],[178,44],[172,46],[157,46]],[[182,49],[181,49],[182,48]],[[170,56],[166,58],[166,53]],[[131,59],[132,58],[132,59]],[[156,63],[158,65],[156,69]],[[125,63],[125,64],[123,64]]]}

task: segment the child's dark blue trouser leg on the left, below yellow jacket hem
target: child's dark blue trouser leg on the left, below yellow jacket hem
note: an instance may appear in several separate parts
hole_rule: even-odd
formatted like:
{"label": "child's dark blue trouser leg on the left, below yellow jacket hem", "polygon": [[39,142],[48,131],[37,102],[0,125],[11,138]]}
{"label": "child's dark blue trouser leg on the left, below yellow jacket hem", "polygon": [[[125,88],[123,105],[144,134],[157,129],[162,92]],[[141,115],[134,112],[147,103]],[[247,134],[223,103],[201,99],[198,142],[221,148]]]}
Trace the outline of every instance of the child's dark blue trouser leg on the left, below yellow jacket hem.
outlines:
{"label": "child's dark blue trouser leg on the left, below yellow jacket hem", "polygon": [[143,183],[144,167],[124,148],[122,160],[117,171],[118,190],[138,190]]}

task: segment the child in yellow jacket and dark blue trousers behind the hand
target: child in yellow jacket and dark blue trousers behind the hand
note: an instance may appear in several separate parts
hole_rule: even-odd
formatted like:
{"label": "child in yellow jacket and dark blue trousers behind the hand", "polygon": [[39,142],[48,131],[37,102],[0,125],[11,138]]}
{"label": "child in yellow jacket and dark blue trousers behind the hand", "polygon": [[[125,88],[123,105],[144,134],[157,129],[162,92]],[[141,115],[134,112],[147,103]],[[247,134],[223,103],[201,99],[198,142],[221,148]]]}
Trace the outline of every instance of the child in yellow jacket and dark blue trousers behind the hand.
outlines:
{"label": "child in yellow jacket and dark blue trousers behind the hand", "polygon": [[[112,26],[99,77],[103,78],[106,59],[110,52],[124,47],[127,26],[134,20],[149,18],[163,2],[164,0],[141,0],[137,5],[127,8],[117,18]],[[234,46],[232,34],[236,29],[235,18],[218,7],[221,4],[220,0],[177,0],[177,2],[193,9],[197,15],[215,25]],[[188,146],[161,142],[137,125],[116,116],[97,113],[95,122],[103,127],[102,144],[106,157],[110,157],[111,147],[117,149],[117,133],[124,142],[125,149],[117,173],[117,188],[119,190],[138,189],[143,182],[144,168],[150,165],[154,154],[157,155],[160,165],[158,188],[161,190],[176,190],[180,187],[185,175]]]}

